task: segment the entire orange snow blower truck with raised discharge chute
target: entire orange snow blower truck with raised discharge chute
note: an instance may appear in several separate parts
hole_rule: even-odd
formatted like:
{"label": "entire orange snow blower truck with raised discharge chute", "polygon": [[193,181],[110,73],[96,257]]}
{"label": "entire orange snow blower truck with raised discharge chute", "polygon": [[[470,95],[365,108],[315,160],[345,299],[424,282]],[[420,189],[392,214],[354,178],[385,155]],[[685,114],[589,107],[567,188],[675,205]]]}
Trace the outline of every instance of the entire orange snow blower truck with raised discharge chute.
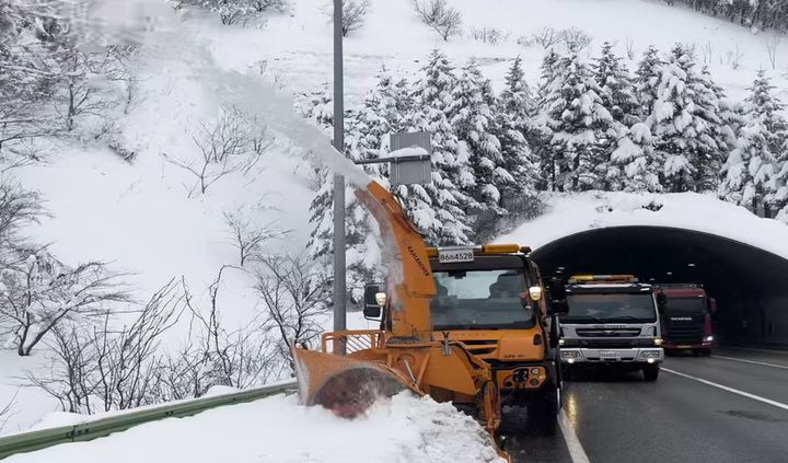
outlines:
{"label": "entire orange snow blower truck with raised discharge chute", "polygon": [[390,263],[386,283],[366,291],[366,315],[382,313],[381,329],[326,333],[322,351],[293,348],[302,402],[355,417],[409,389],[471,408],[494,439],[505,401],[555,419],[558,324],[528,248],[427,248],[385,188],[372,182],[357,196]]}

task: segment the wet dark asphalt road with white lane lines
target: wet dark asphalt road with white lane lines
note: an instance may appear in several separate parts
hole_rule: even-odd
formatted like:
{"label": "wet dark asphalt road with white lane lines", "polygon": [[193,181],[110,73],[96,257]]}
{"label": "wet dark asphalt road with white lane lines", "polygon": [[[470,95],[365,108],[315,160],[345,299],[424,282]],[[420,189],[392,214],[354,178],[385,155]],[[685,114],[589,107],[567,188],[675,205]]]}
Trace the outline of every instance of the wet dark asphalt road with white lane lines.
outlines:
{"label": "wet dark asphalt road with white lane lines", "polygon": [[[663,367],[654,383],[611,371],[565,383],[565,413],[591,462],[788,463],[788,352],[718,349],[669,357]],[[514,462],[572,462],[559,429],[545,436],[524,413],[506,417]]]}

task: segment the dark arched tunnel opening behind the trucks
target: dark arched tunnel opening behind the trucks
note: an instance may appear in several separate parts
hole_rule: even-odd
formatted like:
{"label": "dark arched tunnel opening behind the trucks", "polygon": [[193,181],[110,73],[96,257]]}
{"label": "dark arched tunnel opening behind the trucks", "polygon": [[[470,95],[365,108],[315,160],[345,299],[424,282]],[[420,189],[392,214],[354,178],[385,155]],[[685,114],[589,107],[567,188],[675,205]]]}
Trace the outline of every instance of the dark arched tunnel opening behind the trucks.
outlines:
{"label": "dark arched tunnel opening behind the trucks", "polygon": [[544,276],[633,274],[644,282],[696,282],[717,298],[721,343],[788,347],[788,259],[727,238],[664,227],[571,234],[532,254]]}

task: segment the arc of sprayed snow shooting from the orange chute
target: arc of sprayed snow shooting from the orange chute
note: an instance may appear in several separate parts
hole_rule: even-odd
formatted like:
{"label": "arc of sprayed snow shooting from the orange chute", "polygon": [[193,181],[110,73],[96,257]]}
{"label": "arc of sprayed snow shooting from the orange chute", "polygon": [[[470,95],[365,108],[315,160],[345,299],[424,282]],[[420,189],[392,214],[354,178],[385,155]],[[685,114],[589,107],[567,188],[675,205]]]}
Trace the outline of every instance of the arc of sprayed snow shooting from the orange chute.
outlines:
{"label": "arc of sprayed snow shooting from the orange chute", "polygon": [[[157,47],[166,56],[184,59],[184,51],[197,65],[197,79],[216,92],[224,104],[233,104],[259,117],[271,130],[301,147],[315,167],[327,167],[357,187],[372,181],[362,169],[345,158],[328,138],[298,116],[292,97],[260,78],[221,69],[194,31],[161,0],[63,0],[73,3],[72,14],[84,26],[86,47],[106,45],[144,45]],[[81,4],[80,4],[81,3]]]}

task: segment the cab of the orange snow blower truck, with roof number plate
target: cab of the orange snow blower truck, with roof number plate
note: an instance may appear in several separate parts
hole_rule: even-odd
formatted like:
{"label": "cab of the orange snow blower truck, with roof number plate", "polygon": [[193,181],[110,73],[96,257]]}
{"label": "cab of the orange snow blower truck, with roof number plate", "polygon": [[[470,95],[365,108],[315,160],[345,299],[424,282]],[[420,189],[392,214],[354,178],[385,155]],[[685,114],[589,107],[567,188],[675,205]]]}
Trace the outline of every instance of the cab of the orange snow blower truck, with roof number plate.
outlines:
{"label": "cab of the orange snow blower truck, with roof number plate", "polygon": [[[501,404],[523,405],[529,416],[554,420],[561,392],[557,323],[551,336],[551,304],[529,252],[513,244],[428,247],[437,287],[432,336],[460,343],[488,363]],[[384,308],[384,329],[386,319]]]}

